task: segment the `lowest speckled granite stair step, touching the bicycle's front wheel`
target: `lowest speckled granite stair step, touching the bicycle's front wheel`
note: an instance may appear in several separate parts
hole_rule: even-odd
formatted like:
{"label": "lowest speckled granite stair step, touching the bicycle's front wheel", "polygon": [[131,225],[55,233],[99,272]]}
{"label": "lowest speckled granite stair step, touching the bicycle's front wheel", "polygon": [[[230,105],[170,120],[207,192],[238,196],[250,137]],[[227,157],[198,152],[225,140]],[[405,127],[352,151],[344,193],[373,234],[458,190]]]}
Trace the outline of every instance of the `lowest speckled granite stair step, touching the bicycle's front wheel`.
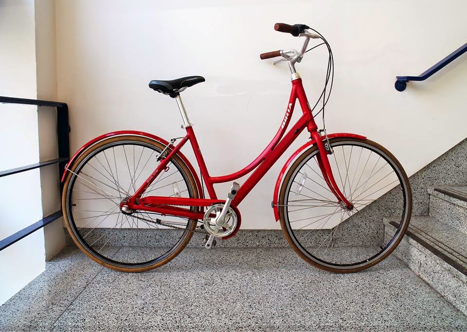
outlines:
{"label": "lowest speckled granite stair step, touching the bicycle's front wheel", "polygon": [[[385,217],[385,229],[397,227],[399,220]],[[431,216],[413,216],[394,253],[467,315],[467,234]]]}

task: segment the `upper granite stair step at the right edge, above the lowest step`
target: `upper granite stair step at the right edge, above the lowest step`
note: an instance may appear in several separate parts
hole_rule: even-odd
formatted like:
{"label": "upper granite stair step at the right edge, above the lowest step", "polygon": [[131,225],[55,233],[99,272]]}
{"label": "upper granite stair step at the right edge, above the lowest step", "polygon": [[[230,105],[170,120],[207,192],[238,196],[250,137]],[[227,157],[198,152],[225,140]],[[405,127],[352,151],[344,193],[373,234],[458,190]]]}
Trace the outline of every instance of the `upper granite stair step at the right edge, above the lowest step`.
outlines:
{"label": "upper granite stair step at the right edge, above the lowest step", "polygon": [[467,234],[467,187],[429,188],[430,216]]}

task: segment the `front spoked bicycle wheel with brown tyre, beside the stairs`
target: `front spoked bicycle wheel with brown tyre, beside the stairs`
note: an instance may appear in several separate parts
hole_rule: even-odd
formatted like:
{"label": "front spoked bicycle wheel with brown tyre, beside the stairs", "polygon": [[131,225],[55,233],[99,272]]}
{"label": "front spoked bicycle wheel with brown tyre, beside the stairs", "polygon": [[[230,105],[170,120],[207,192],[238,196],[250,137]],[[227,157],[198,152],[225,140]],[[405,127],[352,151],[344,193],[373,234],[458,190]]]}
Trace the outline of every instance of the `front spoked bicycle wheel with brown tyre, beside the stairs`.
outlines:
{"label": "front spoked bicycle wheel with brown tyre, beside the stairs", "polygon": [[[306,262],[332,272],[358,272],[381,262],[402,240],[412,212],[412,192],[404,169],[381,145],[352,138],[332,139],[330,144],[332,173],[354,208],[348,210],[329,190],[314,145],[284,178],[281,227]],[[396,216],[398,227],[385,228],[385,216]]]}

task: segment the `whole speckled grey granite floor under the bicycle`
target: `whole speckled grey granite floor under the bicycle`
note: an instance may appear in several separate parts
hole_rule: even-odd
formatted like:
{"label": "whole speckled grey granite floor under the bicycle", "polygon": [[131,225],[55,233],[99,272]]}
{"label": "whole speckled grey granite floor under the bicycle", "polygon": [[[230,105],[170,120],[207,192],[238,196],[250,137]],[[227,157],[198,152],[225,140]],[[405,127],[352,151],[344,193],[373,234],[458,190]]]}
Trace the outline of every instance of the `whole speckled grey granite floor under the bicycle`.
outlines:
{"label": "whole speckled grey granite floor under the bicycle", "polygon": [[187,248],[119,273],[77,249],[0,307],[0,330],[467,330],[467,317],[390,256],[336,275],[288,248]]}

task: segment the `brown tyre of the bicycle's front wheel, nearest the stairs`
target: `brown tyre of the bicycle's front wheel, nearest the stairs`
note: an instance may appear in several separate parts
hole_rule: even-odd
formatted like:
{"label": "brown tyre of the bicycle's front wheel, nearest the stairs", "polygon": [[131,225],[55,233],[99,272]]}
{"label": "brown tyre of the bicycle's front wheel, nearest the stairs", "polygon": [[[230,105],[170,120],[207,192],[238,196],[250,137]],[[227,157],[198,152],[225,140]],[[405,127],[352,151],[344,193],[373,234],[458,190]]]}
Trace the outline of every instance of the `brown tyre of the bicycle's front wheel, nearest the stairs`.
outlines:
{"label": "brown tyre of the bicycle's front wheel, nearest the stairs", "polygon": [[311,260],[295,244],[295,242],[292,239],[292,236],[287,231],[287,225],[286,225],[286,220],[285,220],[285,216],[284,216],[284,207],[283,207],[283,205],[284,205],[284,201],[285,201],[286,190],[287,190],[288,182],[290,181],[295,169],[300,165],[300,163],[305,158],[307,158],[309,155],[311,155],[313,152],[315,152],[318,149],[318,147],[316,145],[310,147],[300,157],[298,157],[297,160],[294,161],[292,166],[290,166],[289,170],[287,171],[287,174],[284,177],[284,181],[282,181],[281,191],[279,193],[279,219],[280,219],[280,222],[281,222],[282,232],[284,233],[284,236],[287,239],[288,244],[297,253],[297,255],[299,255],[303,260],[305,260],[309,264],[311,264],[313,266],[316,266],[316,267],[318,267],[318,268],[320,268],[322,270],[325,270],[325,271],[330,271],[330,272],[335,272],[335,273],[353,273],[353,272],[359,272],[359,271],[365,270],[365,269],[367,269],[369,267],[372,267],[372,266],[376,265],[377,263],[381,262],[386,257],[388,257],[389,254],[391,254],[391,252],[393,252],[393,250],[397,247],[397,245],[399,245],[399,243],[402,240],[402,238],[404,237],[404,234],[405,234],[405,232],[407,230],[407,227],[409,227],[409,223],[410,223],[410,217],[411,217],[411,214],[412,214],[412,190],[410,188],[409,178],[407,177],[407,174],[405,173],[404,168],[401,166],[399,161],[393,156],[393,154],[391,152],[389,152],[387,149],[385,149],[383,146],[379,145],[378,143],[376,143],[376,142],[374,142],[372,140],[358,140],[358,139],[352,139],[352,138],[338,138],[338,139],[331,139],[330,140],[331,144],[335,143],[335,142],[340,142],[340,141],[356,141],[356,142],[363,142],[363,143],[366,143],[368,145],[372,145],[375,148],[382,151],[384,154],[386,154],[390,159],[392,159],[395,166],[400,170],[401,175],[402,175],[402,180],[405,182],[405,184],[407,186],[407,189],[408,189],[407,202],[406,202],[407,209],[408,209],[408,217],[407,217],[407,222],[406,222],[404,228],[401,230],[401,234],[399,234],[399,237],[395,241],[394,245],[384,255],[382,255],[381,257],[378,257],[377,260],[375,260],[374,262],[371,262],[371,263],[369,263],[367,265],[364,265],[364,266],[361,266],[361,267],[356,267],[356,268],[350,268],[350,269],[338,269],[338,268],[331,268],[331,267],[319,264],[318,262],[315,262],[315,261]]}

